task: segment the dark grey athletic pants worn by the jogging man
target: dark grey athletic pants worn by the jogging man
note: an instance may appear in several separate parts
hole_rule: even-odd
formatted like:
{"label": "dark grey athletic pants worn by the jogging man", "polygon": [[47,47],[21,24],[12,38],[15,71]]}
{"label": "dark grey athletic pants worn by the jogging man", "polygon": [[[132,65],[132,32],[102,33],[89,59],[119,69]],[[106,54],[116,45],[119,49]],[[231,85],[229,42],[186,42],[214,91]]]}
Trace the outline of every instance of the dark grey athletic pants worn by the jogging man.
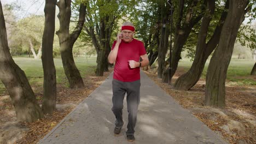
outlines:
{"label": "dark grey athletic pants worn by the jogging man", "polygon": [[113,107],[112,111],[115,115],[116,121],[115,126],[121,128],[123,127],[123,101],[125,97],[125,93],[127,93],[126,101],[127,101],[127,111],[128,115],[128,124],[126,135],[133,135],[135,130],[135,124],[137,120],[137,111],[139,105],[139,88],[141,87],[141,80],[133,81],[133,82],[122,82],[113,79],[112,81],[112,89],[113,89]]}

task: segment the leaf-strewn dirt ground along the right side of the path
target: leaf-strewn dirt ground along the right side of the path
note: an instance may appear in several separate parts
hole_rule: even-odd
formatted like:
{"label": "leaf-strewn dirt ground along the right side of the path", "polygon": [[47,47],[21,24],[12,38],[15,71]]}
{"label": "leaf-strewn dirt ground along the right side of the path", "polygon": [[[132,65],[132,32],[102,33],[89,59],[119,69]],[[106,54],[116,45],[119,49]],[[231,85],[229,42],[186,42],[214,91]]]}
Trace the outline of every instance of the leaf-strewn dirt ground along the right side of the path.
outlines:
{"label": "leaf-strewn dirt ground along the right side of the path", "polygon": [[[174,82],[183,70],[177,70]],[[159,87],[214,130],[229,143],[256,143],[256,86],[234,86],[226,82],[226,107],[203,106],[205,80],[200,80],[190,91],[171,89],[153,71],[144,71]],[[249,79],[252,79],[250,76]],[[256,77],[253,78],[256,80]]]}

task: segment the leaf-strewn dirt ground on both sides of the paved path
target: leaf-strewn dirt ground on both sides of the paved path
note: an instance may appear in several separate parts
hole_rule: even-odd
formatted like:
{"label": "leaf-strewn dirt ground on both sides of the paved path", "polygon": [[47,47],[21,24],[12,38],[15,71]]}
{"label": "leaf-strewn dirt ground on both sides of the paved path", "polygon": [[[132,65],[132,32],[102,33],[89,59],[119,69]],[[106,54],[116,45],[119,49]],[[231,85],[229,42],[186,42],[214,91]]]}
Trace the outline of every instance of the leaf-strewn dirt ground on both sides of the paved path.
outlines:
{"label": "leaf-strewn dirt ground on both sides of the paved path", "polygon": [[[113,71],[113,69],[109,70]],[[69,89],[58,85],[57,111],[54,115],[46,115],[45,118],[33,123],[16,122],[14,107],[9,96],[0,97],[0,143],[37,143],[75,106],[100,86],[110,72],[104,73],[103,77],[86,76],[84,88]],[[234,86],[227,82],[226,108],[217,109],[203,106],[205,80],[200,80],[190,91],[177,91],[166,83],[161,83],[157,75],[149,71],[144,72],[185,109],[189,109],[194,116],[222,135],[226,141],[241,144],[256,143],[256,86]],[[183,73],[183,70],[178,70],[173,82]],[[39,103],[42,103],[42,96],[42,93],[36,93]]]}

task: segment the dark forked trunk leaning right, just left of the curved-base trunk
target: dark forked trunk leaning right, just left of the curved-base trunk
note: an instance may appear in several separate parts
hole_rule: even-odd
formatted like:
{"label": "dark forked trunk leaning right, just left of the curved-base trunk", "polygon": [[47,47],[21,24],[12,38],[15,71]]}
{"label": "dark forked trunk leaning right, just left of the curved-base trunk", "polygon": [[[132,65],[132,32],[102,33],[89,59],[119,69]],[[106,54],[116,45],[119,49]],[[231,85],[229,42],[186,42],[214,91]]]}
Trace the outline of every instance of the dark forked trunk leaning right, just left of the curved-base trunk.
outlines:
{"label": "dark forked trunk leaning right, just left of the curved-base trunk", "polygon": [[[200,13],[197,17],[193,17],[194,15],[193,7],[195,7],[198,2],[199,1],[193,1],[193,3],[190,5],[190,8],[188,9],[186,14],[186,19],[183,20],[183,24],[181,25],[182,17],[183,17],[184,0],[179,1],[179,14],[178,14],[179,18],[176,23],[176,30],[174,34],[174,44],[172,49],[171,77],[173,77],[173,75],[177,70],[179,59],[181,59],[181,52],[182,52],[183,46],[185,45],[189,37],[191,29],[196,25],[196,23],[198,23],[202,19],[202,13]],[[202,5],[201,9],[202,9],[201,11],[203,11],[205,7]]]}

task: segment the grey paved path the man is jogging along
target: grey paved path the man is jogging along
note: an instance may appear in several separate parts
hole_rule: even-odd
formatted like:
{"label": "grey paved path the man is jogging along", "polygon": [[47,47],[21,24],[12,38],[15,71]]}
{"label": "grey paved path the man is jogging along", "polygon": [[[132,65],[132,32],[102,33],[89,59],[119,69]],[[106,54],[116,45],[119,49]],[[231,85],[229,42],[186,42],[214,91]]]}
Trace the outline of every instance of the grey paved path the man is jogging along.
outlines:
{"label": "grey paved path the man is jogging along", "polygon": [[121,134],[114,136],[115,117],[111,111],[112,77],[113,73],[39,143],[226,143],[221,136],[177,104],[143,72],[141,103],[135,128],[136,140],[126,140],[126,98],[123,110],[124,126]]}

